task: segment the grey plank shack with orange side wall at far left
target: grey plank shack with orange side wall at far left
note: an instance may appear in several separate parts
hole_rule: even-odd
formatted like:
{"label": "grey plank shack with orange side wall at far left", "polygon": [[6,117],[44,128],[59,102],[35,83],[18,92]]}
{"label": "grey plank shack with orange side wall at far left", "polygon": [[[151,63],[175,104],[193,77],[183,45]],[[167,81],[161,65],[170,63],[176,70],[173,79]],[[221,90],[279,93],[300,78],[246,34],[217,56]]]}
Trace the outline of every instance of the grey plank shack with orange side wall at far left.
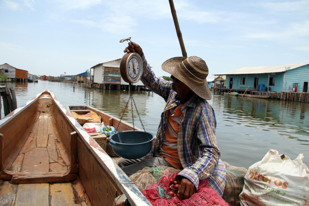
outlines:
{"label": "grey plank shack with orange side wall at far left", "polygon": [[0,67],[3,68],[3,75],[5,75],[9,81],[27,81],[27,70],[17,69],[7,63],[0,65]]}

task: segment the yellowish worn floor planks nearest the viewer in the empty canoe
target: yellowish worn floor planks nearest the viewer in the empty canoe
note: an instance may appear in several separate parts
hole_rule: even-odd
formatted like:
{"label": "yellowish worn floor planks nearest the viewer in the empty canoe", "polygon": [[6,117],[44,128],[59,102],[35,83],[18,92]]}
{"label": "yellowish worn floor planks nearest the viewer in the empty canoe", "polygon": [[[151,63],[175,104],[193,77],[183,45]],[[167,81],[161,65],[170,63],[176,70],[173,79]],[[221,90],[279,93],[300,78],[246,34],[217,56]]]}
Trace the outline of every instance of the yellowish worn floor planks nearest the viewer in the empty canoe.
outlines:
{"label": "yellowish worn floor planks nearest the viewer in the empty canoe", "polygon": [[77,178],[67,183],[11,184],[0,186],[0,205],[8,206],[91,206],[85,189]]}

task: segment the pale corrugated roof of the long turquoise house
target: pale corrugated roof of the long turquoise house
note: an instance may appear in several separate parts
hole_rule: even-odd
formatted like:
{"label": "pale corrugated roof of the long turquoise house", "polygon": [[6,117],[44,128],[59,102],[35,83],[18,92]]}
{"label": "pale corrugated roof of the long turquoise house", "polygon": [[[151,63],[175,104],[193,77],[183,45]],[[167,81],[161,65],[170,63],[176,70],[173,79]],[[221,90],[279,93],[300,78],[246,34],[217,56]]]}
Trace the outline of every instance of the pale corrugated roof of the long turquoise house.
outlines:
{"label": "pale corrugated roof of the long turquoise house", "polygon": [[308,65],[309,63],[302,64],[285,64],[285,65],[272,65],[272,66],[252,66],[235,69],[230,72],[214,75],[231,75],[231,74],[270,74],[276,72],[285,72],[287,70],[296,69],[298,67]]}

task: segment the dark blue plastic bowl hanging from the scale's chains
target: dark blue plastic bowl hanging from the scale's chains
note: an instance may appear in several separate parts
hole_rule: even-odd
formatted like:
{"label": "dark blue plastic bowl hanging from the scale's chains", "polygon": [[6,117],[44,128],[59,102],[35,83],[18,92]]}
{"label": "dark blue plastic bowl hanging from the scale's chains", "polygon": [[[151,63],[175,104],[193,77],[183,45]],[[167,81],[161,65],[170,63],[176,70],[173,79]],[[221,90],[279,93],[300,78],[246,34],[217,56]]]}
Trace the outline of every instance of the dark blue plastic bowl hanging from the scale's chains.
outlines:
{"label": "dark blue plastic bowl hanging from the scale's chains", "polygon": [[148,154],[155,135],[144,131],[124,131],[113,133],[109,145],[116,155],[125,159],[138,159]]}

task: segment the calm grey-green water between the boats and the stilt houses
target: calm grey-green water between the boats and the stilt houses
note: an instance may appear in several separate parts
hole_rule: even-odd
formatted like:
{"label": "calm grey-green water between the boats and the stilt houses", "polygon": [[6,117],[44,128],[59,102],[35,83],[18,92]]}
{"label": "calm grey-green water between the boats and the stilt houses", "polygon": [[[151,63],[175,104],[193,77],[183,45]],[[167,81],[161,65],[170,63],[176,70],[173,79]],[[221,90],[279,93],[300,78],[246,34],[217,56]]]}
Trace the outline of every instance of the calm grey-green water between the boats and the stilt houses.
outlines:
{"label": "calm grey-green water between the boats and the stilt houses", "polygon": [[[18,107],[24,105],[42,90],[52,91],[62,105],[90,105],[132,124],[129,91],[87,89],[71,82],[11,83],[14,86]],[[146,131],[155,133],[165,102],[152,92],[135,92],[133,99]],[[214,107],[216,137],[221,159],[234,166],[245,167],[260,161],[269,149],[275,149],[295,159],[305,156],[309,166],[309,104],[272,99],[243,98],[230,95],[213,95],[209,103]],[[142,128],[133,105],[134,125]],[[2,108],[2,117],[4,116]]]}

